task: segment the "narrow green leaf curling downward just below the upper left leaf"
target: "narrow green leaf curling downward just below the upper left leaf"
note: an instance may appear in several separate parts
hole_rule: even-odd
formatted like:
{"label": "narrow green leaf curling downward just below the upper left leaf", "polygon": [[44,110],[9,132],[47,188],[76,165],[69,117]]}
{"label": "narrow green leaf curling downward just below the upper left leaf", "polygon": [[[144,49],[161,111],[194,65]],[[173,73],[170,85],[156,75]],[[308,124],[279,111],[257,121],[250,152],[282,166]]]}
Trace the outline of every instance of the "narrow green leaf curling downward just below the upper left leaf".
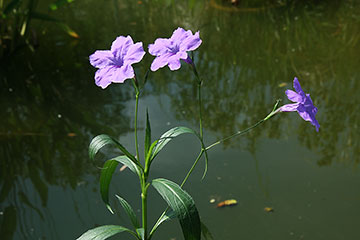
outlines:
{"label": "narrow green leaf curling downward just below the upper left leaf", "polygon": [[111,213],[114,212],[109,204],[109,186],[118,163],[124,164],[138,176],[141,176],[142,174],[142,170],[138,167],[138,165],[131,161],[127,156],[118,156],[105,162],[100,175],[100,194],[103,202],[106,204],[106,207]]}

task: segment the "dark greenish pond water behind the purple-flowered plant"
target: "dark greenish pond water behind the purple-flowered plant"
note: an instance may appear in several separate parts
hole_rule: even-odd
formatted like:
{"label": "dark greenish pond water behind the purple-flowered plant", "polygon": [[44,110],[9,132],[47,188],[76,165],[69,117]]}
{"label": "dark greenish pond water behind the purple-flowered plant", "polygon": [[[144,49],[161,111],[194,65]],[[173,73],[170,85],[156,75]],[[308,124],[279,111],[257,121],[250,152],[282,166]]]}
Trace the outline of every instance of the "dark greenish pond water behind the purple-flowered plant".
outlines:
{"label": "dark greenish pond water behind the purple-flowered plant", "polygon": [[[201,162],[185,189],[214,239],[359,239],[359,12],[358,1],[90,0],[51,13],[79,39],[33,21],[35,52],[24,48],[1,62],[1,238],[76,239],[99,225],[129,226],[114,197],[111,215],[98,191],[99,168],[116,152],[105,149],[91,162],[87,148],[107,133],[134,152],[134,93],[130,81],[98,88],[88,56],[119,35],[147,46],[181,26],[200,30],[203,40],[195,61],[205,79],[207,144],[257,122],[276,99],[288,103],[294,76],[319,109],[319,133],[288,113],[209,151],[206,178]],[[152,59],[146,55],[136,71],[144,74]],[[197,129],[196,89],[185,65],[152,74],[140,99],[139,138],[146,108],[153,136],[178,125]],[[180,182],[198,151],[196,139],[179,137],[150,177]],[[139,190],[130,171],[115,173],[111,196],[140,209]],[[153,190],[149,198],[152,225],[165,204]],[[237,206],[210,203],[231,198]],[[154,239],[182,239],[178,222]]]}

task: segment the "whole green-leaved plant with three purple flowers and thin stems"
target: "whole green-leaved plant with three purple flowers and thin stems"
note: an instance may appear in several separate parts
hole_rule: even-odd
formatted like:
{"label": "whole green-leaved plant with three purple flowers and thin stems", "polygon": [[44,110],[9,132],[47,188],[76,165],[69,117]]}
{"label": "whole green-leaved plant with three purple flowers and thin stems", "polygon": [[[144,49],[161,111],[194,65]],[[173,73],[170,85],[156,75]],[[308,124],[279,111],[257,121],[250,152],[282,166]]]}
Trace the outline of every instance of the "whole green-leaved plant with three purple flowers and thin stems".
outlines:
{"label": "whole green-leaved plant with three purple flowers and thin stems", "polygon": [[[297,111],[299,115],[305,120],[310,121],[316,130],[319,130],[319,123],[315,119],[317,108],[309,94],[305,94],[300,87],[297,78],[294,79],[294,88],[296,92],[287,90],[286,95],[289,100],[295,102],[287,104],[278,108],[279,100],[276,101],[272,111],[259,122],[248,127],[245,130],[238,131],[233,135],[221,139],[208,146],[205,145],[203,140],[203,127],[202,127],[202,99],[201,99],[201,86],[203,83],[202,78],[199,76],[194,60],[190,58],[188,52],[197,49],[201,45],[199,32],[192,34],[190,30],[185,31],[182,28],[176,29],[169,39],[158,38],[154,44],[149,45],[149,53],[155,56],[150,69],[157,71],[158,69],[168,65],[170,70],[178,70],[181,67],[181,60],[189,64],[193,71],[198,85],[198,107],[199,107],[199,130],[195,131],[188,127],[174,127],[165,132],[160,138],[152,141],[151,126],[148,114],[146,114],[146,128],[144,140],[144,158],[141,160],[139,156],[138,138],[137,138],[137,115],[138,115],[138,102],[140,95],[139,82],[136,80],[132,64],[140,62],[145,52],[142,48],[142,43],[133,43],[130,36],[118,37],[112,44],[111,50],[96,51],[90,56],[90,63],[98,68],[95,73],[96,85],[106,88],[111,83],[123,83],[126,79],[131,79],[133,82],[136,102],[135,102],[135,148],[136,154],[130,153],[121,143],[108,135],[99,135],[93,138],[89,146],[89,155],[93,159],[96,153],[105,145],[113,145],[117,147],[123,155],[107,160],[101,170],[100,176],[100,193],[102,200],[106,204],[110,212],[113,210],[109,204],[109,185],[112,175],[119,163],[127,166],[139,178],[141,187],[141,200],[142,200],[142,224],[139,223],[138,218],[133,211],[131,205],[122,197],[116,195],[121,206],[129,216],[133,229],[117,225],[105,225],[88,230],[78,239],[106,239],[120,232],[128,232],[138,240],[150,240],[158,227],[165,221],[177,218],[180,222],[185,240],[200,240],[201,232],[204,225],[200,222],[199,213],[192,197],[182,189],[183,185],[191,175],[193,169],[198,161],[204,155],[205,157],[205,171],[207,170],[207,151],[221,142],[233,138],[238,135],[247,133],[265,121],[269,120],[275,114],[280,112]],[[146,83],[147,74],[144,77],[144,84]],[[181,134],[193,134],[200,142],[201,149],[193,165],[188,171],[184,180],[179,185],[175,182],[164,178],[149,180],[150,166],[155,160],[157,154],[175,137]],[[203,176],[203,177],[204,177]],[[157,222],[153,225],[151,230],[148,228],[147,221],[147,193],[148,188],[152,186],[162,196],[168,204],[168,208],[164,210]]]}

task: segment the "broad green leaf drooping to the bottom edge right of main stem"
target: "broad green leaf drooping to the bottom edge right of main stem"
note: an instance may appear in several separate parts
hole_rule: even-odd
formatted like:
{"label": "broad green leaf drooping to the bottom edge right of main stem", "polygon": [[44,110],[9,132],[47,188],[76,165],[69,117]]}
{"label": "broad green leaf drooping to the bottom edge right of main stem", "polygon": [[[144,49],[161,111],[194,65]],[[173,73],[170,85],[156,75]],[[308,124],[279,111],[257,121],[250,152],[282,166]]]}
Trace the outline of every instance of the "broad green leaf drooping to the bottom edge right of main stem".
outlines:
{"label": "broad green leaf drooping to the bottom edge right of main stem", "polygon": [[175,212],[185,240],[200,240],[200,217],[192,197],[179,185],[167,179],[154,179],[152,185]]}

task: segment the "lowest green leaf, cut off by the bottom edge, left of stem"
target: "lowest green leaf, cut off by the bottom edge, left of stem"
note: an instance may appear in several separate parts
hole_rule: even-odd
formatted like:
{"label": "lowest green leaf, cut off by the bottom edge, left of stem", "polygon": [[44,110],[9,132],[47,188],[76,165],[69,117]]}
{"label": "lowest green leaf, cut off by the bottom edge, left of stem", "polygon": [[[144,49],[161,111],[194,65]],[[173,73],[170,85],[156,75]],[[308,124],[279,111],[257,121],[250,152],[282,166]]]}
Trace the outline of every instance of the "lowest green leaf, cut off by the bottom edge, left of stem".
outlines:
{"label": "lowest green leaf, cut off by the bottom edge, left of stem", "polygon": [[137,238],[136,233],[134,233],[128,228],[116,225],[105,225],[88,230],[77,240],[103,240],[121,232],[131,233]]}

